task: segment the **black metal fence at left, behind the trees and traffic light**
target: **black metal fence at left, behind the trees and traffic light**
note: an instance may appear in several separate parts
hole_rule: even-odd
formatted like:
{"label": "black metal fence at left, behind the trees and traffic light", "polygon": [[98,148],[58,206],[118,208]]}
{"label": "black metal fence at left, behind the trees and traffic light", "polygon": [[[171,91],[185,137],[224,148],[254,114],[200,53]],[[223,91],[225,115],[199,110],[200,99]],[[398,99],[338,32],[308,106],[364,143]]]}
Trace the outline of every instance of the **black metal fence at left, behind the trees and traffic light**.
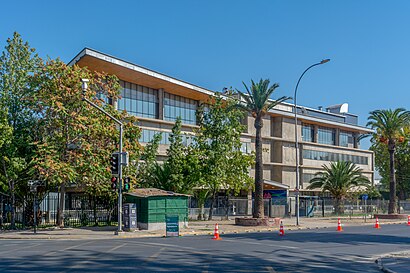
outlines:
{"label": "black metal fence at left, behind the trees and traffic light", "polygon": [[[36,223],[38,227],[57,225],[59,194],[48,193],[36,200]],[[34,195],[16,198],[15,223],[12,223],[10,196],[0,195],[0,229],[25,229],[34,226]],[[106,226],[117,224],[117,200],[84,194],[65,195],[63,213],[65,227]]]}

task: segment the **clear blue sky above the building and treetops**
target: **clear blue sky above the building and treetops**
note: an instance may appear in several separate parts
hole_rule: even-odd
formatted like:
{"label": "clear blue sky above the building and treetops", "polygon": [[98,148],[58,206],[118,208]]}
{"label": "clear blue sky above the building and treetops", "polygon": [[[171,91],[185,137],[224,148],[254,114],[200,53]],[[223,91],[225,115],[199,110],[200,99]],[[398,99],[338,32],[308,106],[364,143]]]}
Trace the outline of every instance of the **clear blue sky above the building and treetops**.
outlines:
{"label": "clear blue sky above the building and treetops", "polygon": [[[205,88],[269,78],[298,103],[408,108],[410,1],[7,1],[0,46],[14,31],[42,57],[91,47]],[[366,148],[368,143],[363,143]]]}

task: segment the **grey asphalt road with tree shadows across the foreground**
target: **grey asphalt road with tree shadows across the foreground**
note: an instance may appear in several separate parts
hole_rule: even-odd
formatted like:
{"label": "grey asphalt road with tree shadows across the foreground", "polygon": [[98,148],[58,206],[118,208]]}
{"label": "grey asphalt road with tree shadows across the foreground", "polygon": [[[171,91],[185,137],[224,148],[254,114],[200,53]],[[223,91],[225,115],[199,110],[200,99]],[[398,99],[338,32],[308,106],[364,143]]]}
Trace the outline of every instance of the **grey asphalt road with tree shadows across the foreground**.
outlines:
{"label": "grey asphalt road with tree shadows across the foreground", "polygon": [[410,227],[385,225],[179,238],[0,240],[1,272],[380,272],[410,250]]}

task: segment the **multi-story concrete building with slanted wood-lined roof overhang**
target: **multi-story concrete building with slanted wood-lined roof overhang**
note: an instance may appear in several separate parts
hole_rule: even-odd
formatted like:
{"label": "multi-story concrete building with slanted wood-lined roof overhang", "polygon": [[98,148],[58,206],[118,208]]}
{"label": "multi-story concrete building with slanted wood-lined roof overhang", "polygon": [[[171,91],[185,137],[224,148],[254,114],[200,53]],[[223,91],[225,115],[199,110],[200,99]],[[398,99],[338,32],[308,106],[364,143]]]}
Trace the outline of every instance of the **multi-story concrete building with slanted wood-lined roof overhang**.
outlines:
{"label": "multi-story concrete building with slanted wood-lined roof overhang", "polygon": [[[88,48],[70,64],[114,74],[121,80],[122,98],[114,104],[118,110],[126,110],[139,118],[141,143],[150,141],[155,133],[163,134],[160,159],[165,156],[168,135],[177,117],[182,118],[182,129],[187,134],[184,140],[189,142],[189,135],[197,127],[195,112],[198,106],[214,94],[211,90]],[[371,131],[358,125],[358,117],[348,113],[347,104],[325,109],[298,106],[296,110],[302,194],[308,194],[304,190],[308,181],[323,164],[331,161],[352,161],[371,181],[374,180],[373,153],[359,146],[359,136]],[[291,194],[296,186],[294,111],[292,104],[278,105],[264,117],[262,131],[266,188],[289,189]],[[244,122],[247,130],[242,135],[242,149],[251,152],[255,142],[254,118],[248,116]]]}

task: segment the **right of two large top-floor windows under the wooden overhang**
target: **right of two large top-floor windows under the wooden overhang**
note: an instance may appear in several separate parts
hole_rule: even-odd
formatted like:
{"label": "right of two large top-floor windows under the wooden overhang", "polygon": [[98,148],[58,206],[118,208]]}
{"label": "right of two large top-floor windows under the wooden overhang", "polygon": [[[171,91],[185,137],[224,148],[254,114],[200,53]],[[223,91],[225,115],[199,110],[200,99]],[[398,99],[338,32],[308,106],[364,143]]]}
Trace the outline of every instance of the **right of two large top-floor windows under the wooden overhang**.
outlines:
{"label": "right of two large top-floor windows under the wooden overhang", "polygon": [[181,117],[182,123],[196,124],[196,110],[198,103],[195,100],[165,93],[164,119],[175,121]]}

